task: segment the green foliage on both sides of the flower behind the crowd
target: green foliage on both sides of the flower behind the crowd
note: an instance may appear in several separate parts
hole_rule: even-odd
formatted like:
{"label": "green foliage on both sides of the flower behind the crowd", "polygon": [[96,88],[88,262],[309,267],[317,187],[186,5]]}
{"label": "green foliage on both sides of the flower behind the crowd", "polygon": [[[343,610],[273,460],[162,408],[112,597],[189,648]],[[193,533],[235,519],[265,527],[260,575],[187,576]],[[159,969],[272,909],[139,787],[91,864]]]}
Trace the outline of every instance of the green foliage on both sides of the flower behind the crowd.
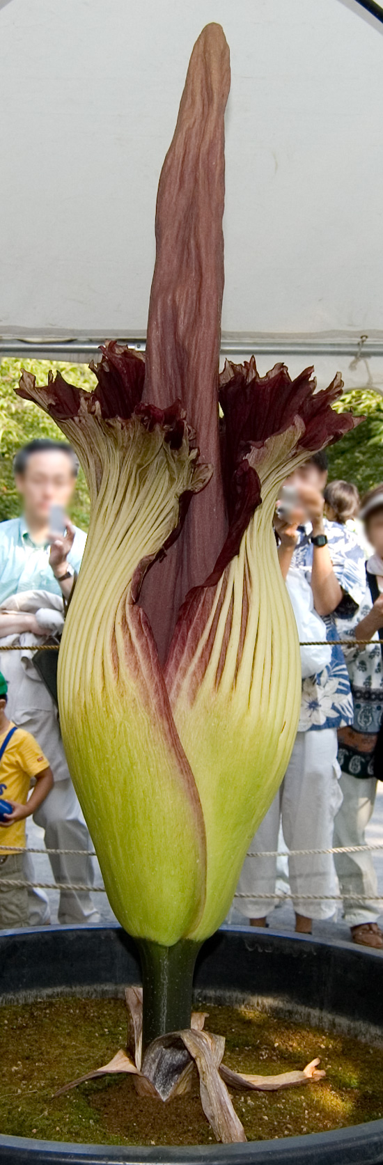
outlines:
{"label": "green foliage on both sides of the flower behind the crowd", "polygon": [[[61,430],[50,417],[36,404],[22,401],[15,395],[14,389],[22,368],[34,373],[40,384],[47,383],[50,368],[61,372],[65,380],[79,388],[90,390],[97,383],[95,376],[86,365],[49,360],[0,361],[0,522],[20,513],[12,472],[16,450],[34,437],[62,439]],[[342,412],[349,408],[367,419],[336,445],[329,447],[329,478],[353,481],[363,494],[366,489],[383,480],[383,396],[361,389],[347,393],[338,402],[336,409]],[[81,469],[70,516],[76,525],[87,529],[90,503]]]}

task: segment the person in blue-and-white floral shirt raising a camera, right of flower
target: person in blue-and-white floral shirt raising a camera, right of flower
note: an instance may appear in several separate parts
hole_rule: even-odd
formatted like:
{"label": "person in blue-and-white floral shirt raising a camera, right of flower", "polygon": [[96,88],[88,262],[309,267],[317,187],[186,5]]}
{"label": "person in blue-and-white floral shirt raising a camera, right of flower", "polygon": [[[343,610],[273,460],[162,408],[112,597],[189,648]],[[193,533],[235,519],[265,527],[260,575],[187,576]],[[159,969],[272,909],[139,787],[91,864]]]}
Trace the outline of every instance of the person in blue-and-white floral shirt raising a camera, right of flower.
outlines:
{"label": "person in blue-and-white floral shirt raising a camera, right of flower", "polygon": [[[334,817],[342,795],[336,761],[336,730],[353,722],[350,683],[334,612],[357,612],[364,594],[364,555],[357,538],[343,525],[324,520],[326,485],[324,454],[310,458],[293,478],[302,510],[289,521],[276,517],[278,557],[289,585],[289,572],[302,576],[311,588],[314,608],[326,626],[328,663],[302,685],[300,720],[290,764],[246,857],[236,906],[253,926],[265,925],[265,904],[275,905],[276,856],[279,822],[289,849],[314,850],[289,857],[289,875],[296,912],[296,931],[310,934],[312,919],[331,918],[336,909],[336,880],[331,854]],[[290,483],[292,479],[289,479]],[[306,518],[306,527],[298,525]],[[308,636],[311,640],[312,636]],[[317,638],[317,635],[314,636]],[[260,853],[272,852],[271,856]],[[269,903],[268,903],[269,905]]]}

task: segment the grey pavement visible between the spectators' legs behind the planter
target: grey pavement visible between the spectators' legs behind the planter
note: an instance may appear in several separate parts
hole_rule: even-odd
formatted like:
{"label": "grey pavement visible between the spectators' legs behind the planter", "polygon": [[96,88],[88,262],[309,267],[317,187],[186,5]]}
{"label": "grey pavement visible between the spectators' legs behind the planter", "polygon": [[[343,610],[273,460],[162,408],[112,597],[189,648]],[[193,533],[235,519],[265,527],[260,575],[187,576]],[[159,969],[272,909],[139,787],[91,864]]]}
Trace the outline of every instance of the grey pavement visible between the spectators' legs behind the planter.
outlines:
{"label": "grey pavement visible between the spectators' legs behind the planter", "polygon": [[[383,842],[383,785],[378,785],[378,792],[376,798],[375,812],[373,820],[367,831],[367,841],[369,843],[381,841]],[[29,818],[27,821],[27,845],[34,846],[35,848],[44,848],[43,831],[34,824]],[[383,849],[377,850],[374,855],[374,862],[378,876],[378,894],[382,894],[382,918],[383,924]],[[52,873],[49,864],[48,854],[35,854],[34,855],[35,866],[35,881],[36,882],[52,882]],[[93,859],[94,866],[94,885],[102,887],[102,878],[100,874],[100,867],[97,859]],[[279,888],[281,889],[281,883]],[[58,891],[48,890],[48,898],[50,904],[51,923],[57,923],[57,908],[58,908]],[[113,922],[114,915],[109,906],[106,894],[94,894],[94,905],[100,913],[102,922]],[[340,904],[341,905],[341,904]],[[229,916],[229,922],[232,925],[242,924],[243,917],[237,911],[232,910]],[[270,925],[274,930],[278,931],[293,931],[295,916],[292,905],[290,902],[283,903],[277,910],[270,916]],[[341,918],[341,910],[338,911],[336,919],[329,919],[325,923],[314,923],[313,932],[320,938],[326,939],[348,939],[349,931]]]}

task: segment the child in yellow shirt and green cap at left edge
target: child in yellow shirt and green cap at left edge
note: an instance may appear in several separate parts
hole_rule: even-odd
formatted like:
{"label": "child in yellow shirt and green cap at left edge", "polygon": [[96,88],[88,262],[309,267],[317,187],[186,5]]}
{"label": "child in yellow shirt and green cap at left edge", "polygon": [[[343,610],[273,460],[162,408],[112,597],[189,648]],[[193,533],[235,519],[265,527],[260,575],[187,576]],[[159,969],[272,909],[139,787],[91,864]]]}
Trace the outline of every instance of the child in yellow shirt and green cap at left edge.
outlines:
{"label": "child in yellow shirt and green cap at left edge", "polygon": [[[8,685],[0,672],[0,929],[28,926],[28,895],[22,885],[22,850],[26,845],[26,818],[35,813],[54,784],[47,757],[29,732],[17,728],[6,716]],[[30,782],[36,784],[28,799]],[[12,812],[5,812],[6,802]],[[2,831],[2,832],[1,832]]]}

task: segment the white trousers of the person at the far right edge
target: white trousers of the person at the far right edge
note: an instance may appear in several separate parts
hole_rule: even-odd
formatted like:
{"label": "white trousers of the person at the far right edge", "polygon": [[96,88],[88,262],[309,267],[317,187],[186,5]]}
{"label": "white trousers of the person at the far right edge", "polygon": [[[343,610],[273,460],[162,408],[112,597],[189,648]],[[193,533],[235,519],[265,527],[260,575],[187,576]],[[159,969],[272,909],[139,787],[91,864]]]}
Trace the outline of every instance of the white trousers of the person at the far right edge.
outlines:
{"label": "white trousers of the person at the far right edge", "polygon": [[[366,827],[373,816],[377,782],[342,772],[343,800],[334,822],[334,846],[366,846]],[[343,916],[349,926],[376,923],[382,913],[378,902],[363,902],[360,895],[377,895],[377,877],[369,853],[335,854],[335,869],[343,896]]]}

